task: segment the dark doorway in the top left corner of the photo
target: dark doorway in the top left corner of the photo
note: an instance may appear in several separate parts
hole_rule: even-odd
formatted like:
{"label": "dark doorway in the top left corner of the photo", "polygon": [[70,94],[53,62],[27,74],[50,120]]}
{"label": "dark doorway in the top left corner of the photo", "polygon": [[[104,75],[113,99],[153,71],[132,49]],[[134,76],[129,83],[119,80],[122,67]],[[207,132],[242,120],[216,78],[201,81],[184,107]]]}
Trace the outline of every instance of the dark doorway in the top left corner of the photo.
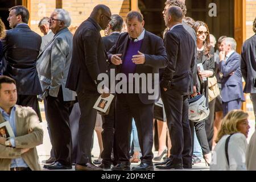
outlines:
{"label": "dark doorway in the top left corner of the photo", "polygon": [[13,6],[22,5],[22,0],[0,0],[0,18],[5,23],[6,29],[10,29],[7,18],[9,16],[9,8]]}

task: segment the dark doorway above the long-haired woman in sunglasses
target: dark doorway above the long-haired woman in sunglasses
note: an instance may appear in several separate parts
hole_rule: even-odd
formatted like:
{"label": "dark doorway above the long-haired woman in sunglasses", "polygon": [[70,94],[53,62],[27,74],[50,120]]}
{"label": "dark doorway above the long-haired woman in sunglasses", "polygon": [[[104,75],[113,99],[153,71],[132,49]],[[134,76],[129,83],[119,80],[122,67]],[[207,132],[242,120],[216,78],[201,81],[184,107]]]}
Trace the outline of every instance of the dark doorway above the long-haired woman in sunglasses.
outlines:
{"label": "dark doorway above the long-haired woman in sunglasses", "polygon": [[[210,3],[216,3],[217,16],[210,17]],[[234,38],[234,0],[186,0],[187,15],[208,24],[210,34],[216,39],[222,35]]]}

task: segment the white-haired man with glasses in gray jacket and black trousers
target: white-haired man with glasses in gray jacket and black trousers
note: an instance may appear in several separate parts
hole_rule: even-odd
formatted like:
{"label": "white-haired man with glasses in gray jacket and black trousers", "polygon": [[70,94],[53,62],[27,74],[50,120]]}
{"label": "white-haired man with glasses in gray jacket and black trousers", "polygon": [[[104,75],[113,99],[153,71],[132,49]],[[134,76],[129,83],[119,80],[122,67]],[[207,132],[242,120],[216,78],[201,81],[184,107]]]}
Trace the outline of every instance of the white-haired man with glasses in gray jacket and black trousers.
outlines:
{"label": "white-haired man with glasses in gray jacket and black trousers", "polygon": [[38,71],[49,123],[55,162],[44,165],[47,169],[71,169],[72,140],[69,110],[75,92],[65,88],[72,57],[72,34],[68,30],[71,17],[64,9],[55,9],[49,18],[53,39],[38,56]]}

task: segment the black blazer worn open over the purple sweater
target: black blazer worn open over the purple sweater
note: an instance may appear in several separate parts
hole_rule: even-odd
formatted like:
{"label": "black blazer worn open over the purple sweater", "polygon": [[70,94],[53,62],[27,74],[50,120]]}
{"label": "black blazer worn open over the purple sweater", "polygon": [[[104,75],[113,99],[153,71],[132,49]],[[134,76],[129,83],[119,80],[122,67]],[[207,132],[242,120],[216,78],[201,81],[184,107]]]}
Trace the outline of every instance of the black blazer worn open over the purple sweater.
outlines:
{"label": "black blazer worn open over the purple sweater", "polygon": [[[126,55],[129,41],[129,34],[127,32],[121,34],[117,40],[117,43],[108,52],[109,60],[113,54],[119,53],[122,53],[121,59],[123,60]],[[168,58],[166,55],[166,49],[163,46],[163,40],[148,31],[145,31],[142,46],[139,51],[144,53],[146,62],[144,64],[138,64],[135,73],[145,73],[146,75],[147,73],[159,74],[159,68],[165,68],[168,64]],[[122,64],[117,66],[117,73],[120,73],[121,69]],[[150,100],[148,99],[148,96],[153,94],[148,92],[142,93],[142,83],[140,82],[139,85],[139,98],[143,104],[152,104],[158,100],[159,93],[154,97],[154,100]],[[152,85],[154,85],[159,92],[159,84],[155,83],[153,80]]]}

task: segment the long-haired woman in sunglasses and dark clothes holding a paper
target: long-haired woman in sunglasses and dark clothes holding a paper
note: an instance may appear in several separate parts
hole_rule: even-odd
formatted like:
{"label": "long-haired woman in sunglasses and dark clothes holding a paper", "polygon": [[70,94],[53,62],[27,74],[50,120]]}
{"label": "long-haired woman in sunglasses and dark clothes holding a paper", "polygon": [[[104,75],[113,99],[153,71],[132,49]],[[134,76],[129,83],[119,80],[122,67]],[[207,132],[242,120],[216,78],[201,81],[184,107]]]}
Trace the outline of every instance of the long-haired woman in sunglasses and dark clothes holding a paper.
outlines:
{"label": "long-haired woman in sunglasses and dark clothes holding a paper", "polygon": [[[197,64],[203,64],[204,70],[200,70],[197,73],[197,92],[204,94],[207,99],[208,105],[208,77],[213,76],[214,69],[214,49],[210,46],[210,34],[209,28],[206,23],[197,21],[193,24],[192,28],[195,29],[197,35],[197,52],[196,52],[196,60]],[[210,163],[210,148],[207,140],[207,134],[205,132],[205,120],[200,122],[190,122],[191,123],[191,133],[192,139],[194,134],[194,127],[197,135],[197,139],[199,140],[200,146],[203,151],[203,158],[205,159],[205,163]],[[193,144],[192,140],[192,144]],[[193,145],[192,145],[193,146]],[[193,151],[193,147],[192,147]]]}

